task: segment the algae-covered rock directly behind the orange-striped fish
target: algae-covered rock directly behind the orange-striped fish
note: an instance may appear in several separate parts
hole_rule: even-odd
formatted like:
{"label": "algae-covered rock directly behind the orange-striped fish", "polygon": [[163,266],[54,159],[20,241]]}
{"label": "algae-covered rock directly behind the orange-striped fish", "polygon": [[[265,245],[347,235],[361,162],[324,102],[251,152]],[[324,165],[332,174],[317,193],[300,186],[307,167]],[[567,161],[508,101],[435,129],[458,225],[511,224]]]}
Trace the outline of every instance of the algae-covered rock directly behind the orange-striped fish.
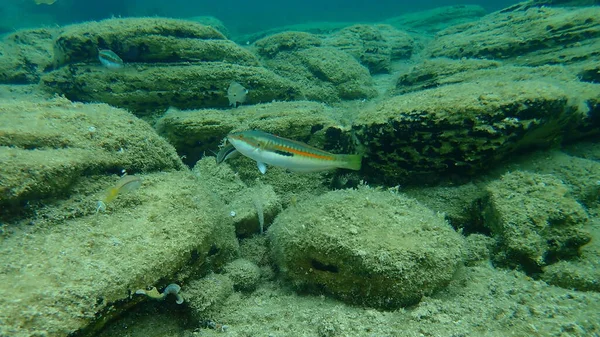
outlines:
{"label": "algae-covered rock directly behind the orange-striped fish", "polygon": [[339,153],[351,141],[332,109],[317,102],[273,102],[230,111],[171,109],[156,123],[158,133],[175,146],[184,162],[194,165],[202,153],[217,151],[231,131],[259,129]]}

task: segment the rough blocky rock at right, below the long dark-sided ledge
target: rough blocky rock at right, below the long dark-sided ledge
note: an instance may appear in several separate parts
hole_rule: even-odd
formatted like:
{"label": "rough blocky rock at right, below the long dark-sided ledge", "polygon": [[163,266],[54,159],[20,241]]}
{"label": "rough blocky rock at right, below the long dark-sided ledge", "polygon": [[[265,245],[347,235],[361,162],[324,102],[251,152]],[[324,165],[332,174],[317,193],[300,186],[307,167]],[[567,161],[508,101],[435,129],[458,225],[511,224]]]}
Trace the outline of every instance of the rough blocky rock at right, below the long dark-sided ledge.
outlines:
{"label": "rough blocky rock at right, below the long dark-sided ledge", "polygon": [[528,272],[573,258],[590,241],[588,215],[551,175],[516,171],[487,187],[485,225],[498,242],[494,259]]}

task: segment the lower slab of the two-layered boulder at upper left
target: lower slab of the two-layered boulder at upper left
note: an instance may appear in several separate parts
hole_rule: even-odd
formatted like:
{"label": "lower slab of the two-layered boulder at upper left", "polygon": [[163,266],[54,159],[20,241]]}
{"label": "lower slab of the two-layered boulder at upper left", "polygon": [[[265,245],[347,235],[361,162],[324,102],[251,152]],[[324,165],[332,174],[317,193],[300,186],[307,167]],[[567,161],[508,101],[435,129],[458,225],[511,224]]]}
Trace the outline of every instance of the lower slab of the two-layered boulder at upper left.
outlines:
{"label": "lower slab of the two-layered boulder at upper left", "polygon": [[232,81],[246,89],[246,103],[293,99],[297,86],[273,72],[223,62],[126,66],[118,71],[93,65],[68,65],[46,74],[47,90],[85,102],[104,102],[145,114],[168,107],[228,107]]}

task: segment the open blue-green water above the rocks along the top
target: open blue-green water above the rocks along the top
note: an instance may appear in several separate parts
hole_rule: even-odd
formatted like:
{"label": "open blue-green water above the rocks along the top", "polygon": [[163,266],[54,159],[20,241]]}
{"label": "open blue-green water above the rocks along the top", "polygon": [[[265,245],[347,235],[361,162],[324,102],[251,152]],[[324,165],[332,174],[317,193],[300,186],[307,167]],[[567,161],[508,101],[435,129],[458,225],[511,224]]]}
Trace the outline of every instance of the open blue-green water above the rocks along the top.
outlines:
{"label": "open blue-green water above the rocks along the top", "polygon": [[[69,24],[113,16],[214,16],[239,33],[313,21],[379,21],[409,12],[440,6],[479,5],[495,11],[518,1],[142,1],[58,0],[36,5],[34,0],[3,0],[0,28],[11,29],[40,24]],[[18,20],[15,20],[18,18]],[[4,27],[3,27],[4,26]]]}

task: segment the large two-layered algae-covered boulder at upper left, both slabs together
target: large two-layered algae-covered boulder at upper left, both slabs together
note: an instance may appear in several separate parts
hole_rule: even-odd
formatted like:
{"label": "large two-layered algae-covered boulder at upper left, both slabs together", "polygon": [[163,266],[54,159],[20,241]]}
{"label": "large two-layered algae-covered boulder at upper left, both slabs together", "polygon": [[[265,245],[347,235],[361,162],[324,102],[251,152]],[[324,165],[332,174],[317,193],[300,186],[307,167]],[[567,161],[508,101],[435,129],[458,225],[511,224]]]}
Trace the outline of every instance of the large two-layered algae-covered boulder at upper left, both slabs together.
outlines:
{"label": "large two-layered algae-covered boulder at upper left, both slabs together", "polygon": [[[230,106],[227,90],[238,82],[246,104],[290,100],[297,85],[260,66],[249,50],[212,27],[164,18],[109,19],[66,27],[54,43],[56,70],[47,91],[71,100],[103,102],[138,115]],[[98,50],[123,59],[121,69],[100,65]]]}

